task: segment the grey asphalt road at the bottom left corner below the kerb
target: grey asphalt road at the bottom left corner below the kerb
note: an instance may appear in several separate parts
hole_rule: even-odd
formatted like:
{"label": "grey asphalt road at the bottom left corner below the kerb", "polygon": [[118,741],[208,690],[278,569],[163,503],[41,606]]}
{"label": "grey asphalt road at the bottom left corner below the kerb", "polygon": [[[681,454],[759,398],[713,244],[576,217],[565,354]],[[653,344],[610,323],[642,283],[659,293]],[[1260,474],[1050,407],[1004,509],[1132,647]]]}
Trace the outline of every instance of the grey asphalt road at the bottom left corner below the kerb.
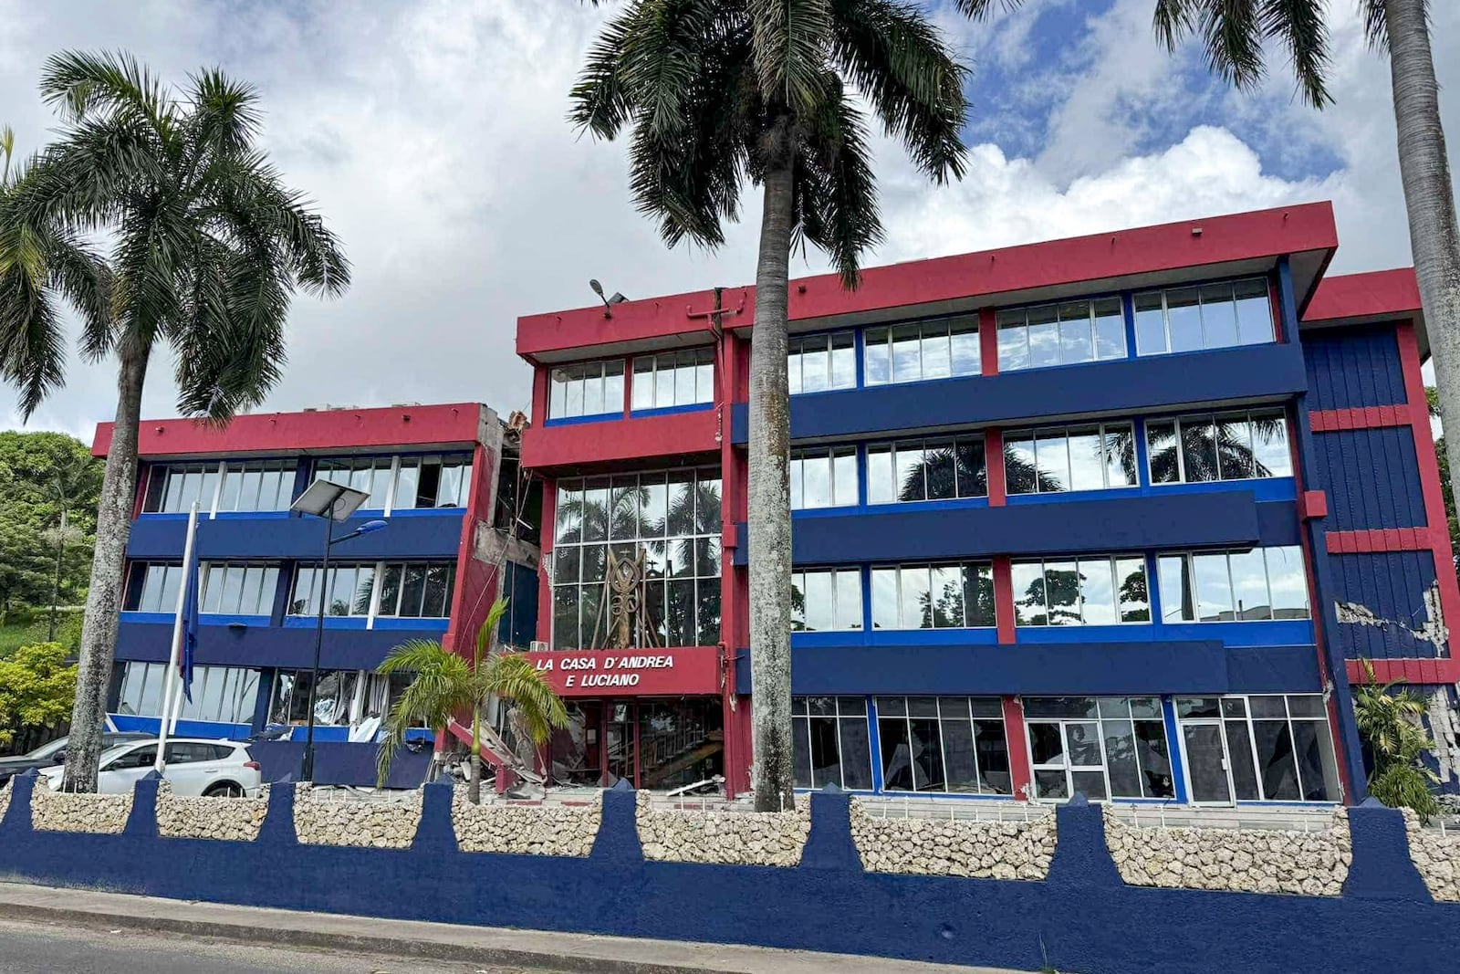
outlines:
{"label": "grey asphalt road at the bottom left corner below the kerb", "polygon": [[0,920],[0,974],[533,974],[355,954],[247,946],[127,930]]}

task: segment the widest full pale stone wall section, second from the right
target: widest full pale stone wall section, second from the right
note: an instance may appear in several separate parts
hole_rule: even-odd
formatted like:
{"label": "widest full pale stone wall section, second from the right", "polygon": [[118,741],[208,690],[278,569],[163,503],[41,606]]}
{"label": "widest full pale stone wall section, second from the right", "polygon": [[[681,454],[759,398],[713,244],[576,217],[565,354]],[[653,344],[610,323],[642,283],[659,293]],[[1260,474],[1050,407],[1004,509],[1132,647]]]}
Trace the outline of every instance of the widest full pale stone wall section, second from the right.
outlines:
{"label": "widest full pale stone wall section, second from the right", "polygon": [[1334,809],[1323,832],[1127,825],[1105,809],[1105,843],[1132,886],[1234,889],[1337,897],[1353,847]]}

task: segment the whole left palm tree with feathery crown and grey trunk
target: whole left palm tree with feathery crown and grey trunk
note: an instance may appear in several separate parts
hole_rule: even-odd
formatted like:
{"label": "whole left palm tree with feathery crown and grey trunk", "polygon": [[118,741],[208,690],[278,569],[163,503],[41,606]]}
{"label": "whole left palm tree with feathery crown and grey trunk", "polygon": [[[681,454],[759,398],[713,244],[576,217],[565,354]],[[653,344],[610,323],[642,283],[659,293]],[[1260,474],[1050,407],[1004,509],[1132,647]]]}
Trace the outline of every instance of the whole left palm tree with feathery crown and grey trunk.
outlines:
{"label": "whole left palm tree with feathery crown and grey trunk", "polygon": [[[15,180],[0,212],[0,254],[23,257],[10,258],[0,289],[0,372],[20,387],[26,416],[63,383],[53,295],[82,311],[85,358],[117,356],[117,422],[66,748],[67,790],[93,791],[147,362],[171,346],[178,409],[226,422],[277,381],[295,288],[339,295],[349,263],[254,146],[261,118],[251,86],[210,69],[175,92],[127,54],[63,53],[47,60],[41,95],[61,117],[60,140]],[[35,245],[89,232],[110,237],[112,272],[85,248]]]}

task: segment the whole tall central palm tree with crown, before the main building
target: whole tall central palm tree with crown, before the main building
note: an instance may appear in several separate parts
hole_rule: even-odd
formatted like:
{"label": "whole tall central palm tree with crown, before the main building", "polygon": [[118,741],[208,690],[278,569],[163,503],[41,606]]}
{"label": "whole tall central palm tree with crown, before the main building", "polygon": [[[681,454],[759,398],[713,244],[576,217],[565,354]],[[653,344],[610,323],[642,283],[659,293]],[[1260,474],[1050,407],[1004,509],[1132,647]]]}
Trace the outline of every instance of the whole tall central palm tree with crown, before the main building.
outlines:
{"label": "whole tall central palm tree with crown, before the main building", "polygon": [[[983,13],[988,0],[959,6]],[[861,102],[942,183],[964,172],[965,74],[933,23],[898,0],[632,0],[572,89],[578,127],[631,130],[634,199],[670,247],[718,247],[745,180],[761,187],[748,494],[758,810],[794,803],[791,250],[815,244],[857,285],[863,251],[882,239]]]}

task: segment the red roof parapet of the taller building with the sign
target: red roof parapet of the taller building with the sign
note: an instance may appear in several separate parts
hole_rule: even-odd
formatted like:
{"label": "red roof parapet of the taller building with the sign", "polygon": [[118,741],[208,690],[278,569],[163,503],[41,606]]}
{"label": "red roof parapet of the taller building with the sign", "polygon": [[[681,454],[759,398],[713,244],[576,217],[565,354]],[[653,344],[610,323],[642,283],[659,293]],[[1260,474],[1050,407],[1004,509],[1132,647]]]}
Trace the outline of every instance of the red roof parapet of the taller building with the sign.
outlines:
{"label": "red roof parapet of the taller building with the sign", "polygon": [[[788,311],[791,321],[815,321],[939,302],[978,307],[977,299],[986,296],[997,301],[1000,295],[1285,254],[1305,256],[1304,266],[1295,266],[1302,307],[1337,245],[1333,206],[1304,203],[869,267],[857,291],[842,289],[837,275],[799,277],[790,282]],[[597,356],[637,342],[694,340],[694,333],[710,327],[704,312],[712,307],[714,292],[696,291],[626,301],[613,307],[612,317],[604,317],[602,305],[524,315],[517,320],[517,353],[529,361],[561,361],[578,349],[581,356]],[[726,288],[721,307],[733,311],[723,317],[724,327],[749,326],[755,288]]]}

